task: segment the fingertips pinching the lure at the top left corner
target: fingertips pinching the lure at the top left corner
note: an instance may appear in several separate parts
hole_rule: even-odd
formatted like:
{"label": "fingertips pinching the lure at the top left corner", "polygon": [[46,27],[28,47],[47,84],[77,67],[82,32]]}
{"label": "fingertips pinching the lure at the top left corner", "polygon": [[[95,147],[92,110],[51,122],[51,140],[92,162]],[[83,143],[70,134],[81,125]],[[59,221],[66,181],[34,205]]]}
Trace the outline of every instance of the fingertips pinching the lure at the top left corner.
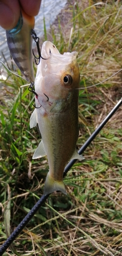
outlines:
{"label": "fingertips pinching the lure at the top left corner", "polygon": [[19,20],[20,10],[29,16],[39,12],[41,0],[0,0],[0,26],[6,30],[13,29]]}

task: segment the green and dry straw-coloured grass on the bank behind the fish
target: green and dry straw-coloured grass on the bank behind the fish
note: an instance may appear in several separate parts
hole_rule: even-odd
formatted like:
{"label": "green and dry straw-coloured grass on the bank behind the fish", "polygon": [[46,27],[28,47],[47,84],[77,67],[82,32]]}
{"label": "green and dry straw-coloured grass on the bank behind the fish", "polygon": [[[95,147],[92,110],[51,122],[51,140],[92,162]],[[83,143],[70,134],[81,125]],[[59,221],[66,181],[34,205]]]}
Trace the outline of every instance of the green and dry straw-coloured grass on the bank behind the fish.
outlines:
{"label": "green and dry straw-coloured grass on the bank behind the fish", "polygon": [[[78,51],[78,149],[122,97],[121,72],[85,88],[121,69],[121,5],[95,3],[79,1],[66,11],[65,28],[63,19],[56,30],[45,28],[60,53]],[[29,128],[33,94],[10,72],[1,84],[0,245],[42,196],[48,172],[46,158],[32,160],[40,141],[37,127]],[[121,135],[120,107],[65,177],[68,195],[50,195],[4,255],[121,255]]]}

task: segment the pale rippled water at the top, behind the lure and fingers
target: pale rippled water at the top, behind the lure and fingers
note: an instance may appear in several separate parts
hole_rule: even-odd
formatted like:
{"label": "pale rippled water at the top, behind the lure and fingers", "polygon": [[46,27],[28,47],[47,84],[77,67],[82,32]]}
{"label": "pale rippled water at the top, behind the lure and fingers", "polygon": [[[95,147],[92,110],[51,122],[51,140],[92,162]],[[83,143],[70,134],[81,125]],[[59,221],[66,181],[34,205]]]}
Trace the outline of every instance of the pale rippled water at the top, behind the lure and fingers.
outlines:
{"label": "pale rippled water at the top, behind the lure and fingers", "polygon": [[[67,0],[42,0],[39,14],[35,18],[35,32],[39,37],[44,34],[44,17],[46,29],[49,29],[57,14],[65,7],[66,3]],[[0,27],[0,59],[3,61],[4,59],[2,52],[4,53],[6,59],[9,60],[10,52],[6,41],[6,33],[5,30]],[[1,62],[0,67],[2,67]]]}

